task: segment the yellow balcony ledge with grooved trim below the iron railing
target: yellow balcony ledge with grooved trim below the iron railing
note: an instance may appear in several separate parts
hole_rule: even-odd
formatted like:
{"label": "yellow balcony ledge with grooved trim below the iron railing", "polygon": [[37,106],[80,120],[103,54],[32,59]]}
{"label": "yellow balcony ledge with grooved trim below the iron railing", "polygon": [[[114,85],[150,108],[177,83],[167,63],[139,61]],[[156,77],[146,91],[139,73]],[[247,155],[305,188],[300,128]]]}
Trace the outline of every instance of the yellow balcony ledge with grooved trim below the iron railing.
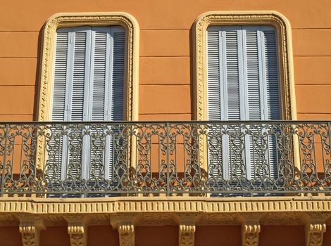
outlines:
{"label": "yellow balcony ledge with grooved trim below the iron railing", "polygon": [[255,215],[262,225],[304,225],[311,215],[331,223],[330,197],[261,198],[1,198],[0,225],[15,225],[21,215],[45,224],[67,225],[72,216],[90,225],[132,220],[135,226],[179,224],[238,225]]}

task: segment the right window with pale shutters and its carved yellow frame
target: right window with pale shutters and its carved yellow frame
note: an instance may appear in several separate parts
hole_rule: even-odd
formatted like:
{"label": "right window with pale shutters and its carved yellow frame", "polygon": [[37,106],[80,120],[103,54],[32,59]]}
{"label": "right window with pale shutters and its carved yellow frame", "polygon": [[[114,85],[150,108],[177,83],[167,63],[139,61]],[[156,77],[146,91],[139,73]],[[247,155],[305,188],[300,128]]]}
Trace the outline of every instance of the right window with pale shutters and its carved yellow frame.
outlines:
{"label": "right window with pale shutters and its carved yellow frame", "polygon": [[[296,119],[290,27],[267,12],[209,12],[195,22],[196,119],[252,121]],[[239,129],[237,129],[239,127]],[[277,177],[275,134],[240,125],[212,129],[204,168],[222,179]],[[221,133],[222,131],[222,133]],[[259,136],[260,135],[260,136]],[[264,145],[267,147],[263,149]],[[208,161],[207,161],[208,160]],[[263,169],[264,167],[264,169]]]}

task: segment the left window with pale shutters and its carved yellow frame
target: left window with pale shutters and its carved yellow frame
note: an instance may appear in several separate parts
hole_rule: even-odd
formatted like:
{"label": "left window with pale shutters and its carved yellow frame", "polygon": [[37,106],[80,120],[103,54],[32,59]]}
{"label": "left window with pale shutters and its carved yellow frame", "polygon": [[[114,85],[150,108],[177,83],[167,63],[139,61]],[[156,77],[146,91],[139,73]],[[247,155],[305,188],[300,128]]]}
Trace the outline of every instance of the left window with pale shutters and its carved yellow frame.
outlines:
{"label": "left window with pale shutters and its carved yellow frame", "polygon": [[[101,124],[137,120],[138,37],[126,13],[63,13],[46,22],[39,121],[60,122],[49,129],[46,155],[38,153],[49,179],[111,179],[114,145],[123,140],[115,139],[118,127]],[[65,126],[82,121],[100,124]]]}

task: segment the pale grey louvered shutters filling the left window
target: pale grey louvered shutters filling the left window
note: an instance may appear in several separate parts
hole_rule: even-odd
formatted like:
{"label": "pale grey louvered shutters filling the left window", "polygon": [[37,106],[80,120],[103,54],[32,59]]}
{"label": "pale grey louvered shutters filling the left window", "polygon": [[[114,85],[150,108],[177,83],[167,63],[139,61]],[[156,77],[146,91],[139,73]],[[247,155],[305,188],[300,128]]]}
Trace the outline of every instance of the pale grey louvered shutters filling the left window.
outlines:
{"label": "pale grey louvered shutters filling the left window", "polygon": [[[115,37],[117,33],[120,39]],[[51,120],[123,120],[124,28],[61,28],[56,35]],[[77,138],[81,134],[81,129],[75,129],[68,135]],[[90,136],[82,139],[73,140],[65,136],[56,149],[56,153],[62,156],[62,163],[51,165],[61,169],[58,172],[62,173],[62,180],[68,178],[68,173],[70,179],[90,179],[91,175],[98,179],[104,176],[105,169],[110,172],[113,163],[109,156],[109,153],[113,155],[110,150],[113,143],[108,137],[105,145],[105,140],[104,129],[95,127]],[[56,158],[51,160],[54,162]]]}

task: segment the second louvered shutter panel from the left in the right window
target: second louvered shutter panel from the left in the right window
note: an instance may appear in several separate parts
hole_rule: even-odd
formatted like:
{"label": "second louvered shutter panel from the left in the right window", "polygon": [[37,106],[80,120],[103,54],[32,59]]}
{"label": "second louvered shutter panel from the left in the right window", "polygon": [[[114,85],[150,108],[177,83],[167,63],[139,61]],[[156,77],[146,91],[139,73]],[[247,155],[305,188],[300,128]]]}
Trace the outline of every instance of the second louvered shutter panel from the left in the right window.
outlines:
{"label": "second louvered shutter panel from the left in the right window", "polygon": [[[225,79],[225,118],[224,120],[241,120],[244,118],[244,77],[241,73],[242,67],[242,34],[241,27],[226,27],[225,32],[225,64],[223,72]],[[243,169],[243,139],[240,137],[240,127],[231,127],[228,138],[224,141],[223,163],[230,167],[231,179],[241,179],[245,170]],[[228,156],[228,157],[227,157]],[[227,159],[229,158],[229,159]]]}

